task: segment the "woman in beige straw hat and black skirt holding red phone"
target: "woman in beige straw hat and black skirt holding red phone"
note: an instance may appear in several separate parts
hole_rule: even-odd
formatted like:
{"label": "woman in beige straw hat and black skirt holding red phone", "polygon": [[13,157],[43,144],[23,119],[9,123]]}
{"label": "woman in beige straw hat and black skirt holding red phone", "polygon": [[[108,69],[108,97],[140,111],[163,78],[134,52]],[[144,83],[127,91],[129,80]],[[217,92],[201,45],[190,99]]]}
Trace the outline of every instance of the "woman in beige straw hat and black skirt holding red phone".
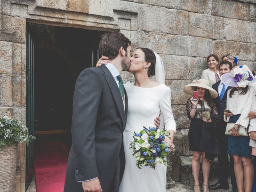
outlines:
{"label": "woman in beige straw hat and black skirt holding red phone", "polygon": [[[210,172],[210,161],[206,159],[205,154],[208,150],[212,151],[212,154],[218,153],[212,150],[212,147],[217,144],[216,140],[214,140],[214,132],[211,131],[210,133],[202,134],[202,132],[204,132],[202,129],[206,126],[210,127],[208,130],[212,130],[212,114],[218,116],[214,100],[212,99],[218,97],[218,93],[209,86],[208,80],[205,79],[193,81],[192,84],[188,84],[184,87],[184,92],[191,96],[194,94],[194,91],[198,91],[198,100],[195,101],[192,98],[189,98],[186,108],[188,118],[191,120],[188,140],[189,150],[193,152],[192,171],[194,176],[194,191],[200,192],[198,180],[200,158],[202,156],[202,170],[204,176],[203,188],[204,191],[209,191],[208,178]],[[202,112],[209,112],[211,114],[211,118],[206,120],[206,118],[202,117]]]}

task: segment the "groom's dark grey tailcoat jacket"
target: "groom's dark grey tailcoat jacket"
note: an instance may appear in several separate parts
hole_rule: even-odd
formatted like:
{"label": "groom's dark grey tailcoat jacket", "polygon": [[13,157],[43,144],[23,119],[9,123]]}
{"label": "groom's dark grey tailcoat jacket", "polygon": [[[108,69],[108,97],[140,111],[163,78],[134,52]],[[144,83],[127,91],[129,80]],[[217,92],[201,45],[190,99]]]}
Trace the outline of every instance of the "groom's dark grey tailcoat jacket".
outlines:
{"label": "groom's dark grey tailcoat jacket", "polygon": [[64,192],[82,192],[82,183],[78,181],[96,177],[102,190],[107,192],[115,182],[114,172],[120,159],[122,177],[125,165],[123,131],[128,109],[124,92],[126,110],[116,81],[105,65],[86,68],[78,76]]}

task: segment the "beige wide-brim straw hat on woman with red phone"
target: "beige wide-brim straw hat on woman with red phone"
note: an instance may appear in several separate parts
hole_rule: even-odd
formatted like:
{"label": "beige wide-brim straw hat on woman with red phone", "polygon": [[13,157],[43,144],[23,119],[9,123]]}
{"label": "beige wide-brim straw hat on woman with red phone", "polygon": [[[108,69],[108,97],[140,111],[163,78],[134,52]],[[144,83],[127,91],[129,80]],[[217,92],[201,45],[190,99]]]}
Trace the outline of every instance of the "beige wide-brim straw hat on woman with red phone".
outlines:
{"label": "beige wide-brim straw hat on woman with red phone", "polygon": [[186,85],[183,90],[185,93],[189,95],[193,95],[195,87],[202,87],[202,88],[208,89],[212,98],[218,97],[218,93],[216,92],[216,90],[214,90],[209,86],[209,82],[206,79],[193,80],[192,84]]}

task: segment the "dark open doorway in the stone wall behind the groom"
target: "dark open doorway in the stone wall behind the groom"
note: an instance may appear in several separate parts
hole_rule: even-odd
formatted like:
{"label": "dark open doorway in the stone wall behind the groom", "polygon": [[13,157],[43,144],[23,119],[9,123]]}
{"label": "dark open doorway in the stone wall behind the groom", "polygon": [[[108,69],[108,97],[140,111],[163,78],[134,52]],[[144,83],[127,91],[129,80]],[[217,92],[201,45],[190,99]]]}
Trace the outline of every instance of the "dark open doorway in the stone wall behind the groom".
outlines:
{"label": "dark open doorway in the stone wall behind the groom", "polygon": [[34,23],[28,23],[27,29],[32,39],[32,43],[27,42],[27,57],[32,58],[27,62],[27,93],[33,93],[27,95],[27,104],[31,103],[27,125],[29,122],[36,140],[26,152],[26,186],[32,178],[33,158],[39,158],[35,165],[42,166],[42,158],[52,156],[55,149],[51,150],[51,145],[56,147],[56,142],[70,149],[76,79],[82,70],[96,64],[100,57],[98,43],[104,33]]}

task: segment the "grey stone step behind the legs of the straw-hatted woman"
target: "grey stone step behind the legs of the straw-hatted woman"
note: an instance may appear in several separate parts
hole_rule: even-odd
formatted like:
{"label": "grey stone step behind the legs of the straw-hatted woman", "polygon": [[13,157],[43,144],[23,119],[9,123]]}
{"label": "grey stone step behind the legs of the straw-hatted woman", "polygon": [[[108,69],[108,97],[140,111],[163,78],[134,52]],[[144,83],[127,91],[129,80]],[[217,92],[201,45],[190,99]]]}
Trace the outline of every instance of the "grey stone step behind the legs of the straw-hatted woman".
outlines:
{"label": "grey stone step behind the legs of the straw-hatted woman", "polygon": [[[179,182],[186,186],[194,185],[194,178],[192,174],[192,156],[182,156],[180,157],[180,180]],[[211,161],[210,169],[210,179],[215,179],[218,177],[218,159],[215,158]],[[202,174],[202,161],[200,162],[200,172],[199,172],[199,182],[202,185],[203,174]]]}

